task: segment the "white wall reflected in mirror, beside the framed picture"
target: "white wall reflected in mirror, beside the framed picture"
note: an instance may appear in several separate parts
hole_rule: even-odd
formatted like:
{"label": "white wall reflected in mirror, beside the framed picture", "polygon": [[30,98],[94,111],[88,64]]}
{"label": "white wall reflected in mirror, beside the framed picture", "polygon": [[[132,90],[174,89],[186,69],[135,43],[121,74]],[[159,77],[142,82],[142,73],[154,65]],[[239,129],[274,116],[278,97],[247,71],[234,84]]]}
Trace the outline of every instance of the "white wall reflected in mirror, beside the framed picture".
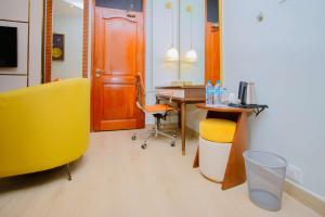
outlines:
{"label": "white wall reflected in mirror, beside the framed picture", "polygon": [[82,77],[82,10],[79,15],[53,17],[53,33],[64,34],[65,53],[64,61],[52,61],[52,79]]}

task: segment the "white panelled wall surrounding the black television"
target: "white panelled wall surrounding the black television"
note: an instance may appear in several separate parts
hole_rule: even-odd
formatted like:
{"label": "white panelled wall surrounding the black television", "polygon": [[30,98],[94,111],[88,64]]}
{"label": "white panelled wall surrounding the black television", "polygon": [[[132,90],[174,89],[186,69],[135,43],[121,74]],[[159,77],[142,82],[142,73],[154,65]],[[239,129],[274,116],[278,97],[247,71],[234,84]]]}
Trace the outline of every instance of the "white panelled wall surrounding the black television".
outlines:
{"label": "white panelled wall surrounding the black television", "polygon": [[28,21],[28,0],[1,0],[0,25],[18,27],[18,67],[0,68],[0,91],[40,84],[41,21],[42,1],[30,0]]}

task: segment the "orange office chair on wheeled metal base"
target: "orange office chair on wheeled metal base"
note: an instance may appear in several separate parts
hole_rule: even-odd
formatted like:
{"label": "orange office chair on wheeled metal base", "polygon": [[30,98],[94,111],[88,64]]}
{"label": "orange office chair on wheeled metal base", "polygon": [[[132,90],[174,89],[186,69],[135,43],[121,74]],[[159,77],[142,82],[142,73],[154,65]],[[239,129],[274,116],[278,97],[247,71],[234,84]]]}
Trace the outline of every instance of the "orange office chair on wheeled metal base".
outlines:
{"label": "orange office chair on wheeled metal base", "polygon": [[[176,138],[177,133],[173,133],[172,136],[166,133],[161,130],[161,119],[166,120],[166,117],[170,115],[172,112],[174,112],[174,107],[168,105],[168,104],[155,104],[155,105],[146,105],[145,104],[145,97],[146,92],[143,85],[142,75],[139,73],[135,76],[135,87],[136,87],[136,106],[142,110],[145,114],[151,114],[155,118],[155,127],[148,131],[148,136],[143,141],[143,144],[141,145],[142,149],[146,149],[146,142],[152,137],[158,137],[164,136],[169,139],[171,139],[170,145],[176,145]],[[136,140],[136,132],[132,136],[132,140]]]}

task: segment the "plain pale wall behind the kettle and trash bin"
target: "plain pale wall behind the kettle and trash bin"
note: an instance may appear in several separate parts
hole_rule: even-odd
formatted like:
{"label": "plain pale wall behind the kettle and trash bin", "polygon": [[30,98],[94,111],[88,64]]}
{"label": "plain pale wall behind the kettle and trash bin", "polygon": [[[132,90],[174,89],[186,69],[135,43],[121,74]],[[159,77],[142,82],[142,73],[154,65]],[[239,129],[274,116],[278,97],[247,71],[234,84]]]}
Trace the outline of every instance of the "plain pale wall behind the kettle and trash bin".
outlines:
{"label": "plain pale wall behind the kettle and trash bin", "polygon": [[[301,168],[301,187],[325,197],[325,1],[223,1],[224,81],[252,80],[270,110],[250,119],[250,148]],[[262,12],[264,21],[256,17]]]}

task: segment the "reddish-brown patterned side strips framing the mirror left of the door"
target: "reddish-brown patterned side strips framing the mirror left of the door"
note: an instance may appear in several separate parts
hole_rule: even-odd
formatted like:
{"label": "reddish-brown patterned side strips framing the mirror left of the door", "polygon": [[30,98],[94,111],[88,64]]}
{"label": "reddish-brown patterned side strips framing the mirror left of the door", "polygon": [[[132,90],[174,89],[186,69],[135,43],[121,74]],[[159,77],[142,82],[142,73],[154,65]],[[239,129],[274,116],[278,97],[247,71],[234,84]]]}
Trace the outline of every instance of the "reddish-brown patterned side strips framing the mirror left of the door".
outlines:
{"label": "reddish-brown patterned side strips framing the mirror left of the door", "polygon": [[[83,27],[82,27],[82,77],[88,78],[89,56],[89,2],[83,0]],[[43,75],[42,82],[51,82],[52,77],[52,43],[53,43],[53,0],[43,0]]]}

